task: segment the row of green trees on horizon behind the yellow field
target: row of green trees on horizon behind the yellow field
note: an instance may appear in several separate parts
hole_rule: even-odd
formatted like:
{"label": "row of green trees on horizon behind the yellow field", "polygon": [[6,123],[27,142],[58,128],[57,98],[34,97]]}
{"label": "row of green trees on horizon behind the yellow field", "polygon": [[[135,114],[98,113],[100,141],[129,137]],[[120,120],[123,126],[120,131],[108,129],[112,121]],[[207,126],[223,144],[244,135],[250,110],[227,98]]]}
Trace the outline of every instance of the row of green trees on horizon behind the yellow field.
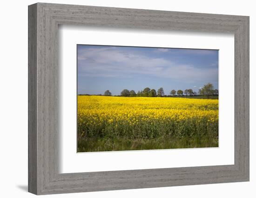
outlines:
{"label": "row of green trees on horizon behind the yellow field", "polygon": [[[170,95],[168,96],[197,96],[197,95],[202,95],[202,96],[213,96],[219,95],[219,90],[215,89],[212,83],[207,83],[205,84],[201,89],[198,90],[198,93],[196,93],[195,91],[193,91],[193,89],[185,89],[184,91],[179,89],[179,90],[171,90],[170,91]],[[112,93],[109,90],[106,90],[104,93],[104,96],[112,96]],[[128,90],[128,89],[123,89],[121,91],[120,96],[123,97],[164,97],[166,95],[164,95],[164,90],[163,88],[159,88],[157,89],[157,91],[155,89],[150,89],[148,87],[146,87],[143,90],[139,90],[136,94],[135,90]]]}

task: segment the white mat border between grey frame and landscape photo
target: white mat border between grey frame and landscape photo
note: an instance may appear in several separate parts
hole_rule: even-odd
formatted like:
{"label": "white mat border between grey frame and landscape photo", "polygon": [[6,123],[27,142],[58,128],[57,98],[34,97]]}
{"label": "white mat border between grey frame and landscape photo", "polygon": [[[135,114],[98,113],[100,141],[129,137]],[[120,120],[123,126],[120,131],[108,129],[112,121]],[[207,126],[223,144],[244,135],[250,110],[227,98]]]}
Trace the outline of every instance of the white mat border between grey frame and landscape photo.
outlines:
{"label": "white mat border between grey frame and landscape photo", "polygon": [[[233,34],[61,26],[59,35],[61,173],[234,164]],[[219,49],[219,147],[76,153],[77,44]]]}

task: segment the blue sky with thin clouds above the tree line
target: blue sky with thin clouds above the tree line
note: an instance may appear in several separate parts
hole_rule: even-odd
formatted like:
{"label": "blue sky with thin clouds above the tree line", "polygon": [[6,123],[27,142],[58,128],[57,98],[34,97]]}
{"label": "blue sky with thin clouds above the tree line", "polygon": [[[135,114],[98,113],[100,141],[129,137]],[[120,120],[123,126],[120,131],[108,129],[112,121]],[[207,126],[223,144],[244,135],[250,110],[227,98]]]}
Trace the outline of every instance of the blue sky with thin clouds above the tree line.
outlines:
{"label": "blue sky with thin clouds above the tree line", "polygon": [[162,87],[198,91],[218,89],[218,51],[176,48],[77,45],[78,94],[120,95],[123,89]]}

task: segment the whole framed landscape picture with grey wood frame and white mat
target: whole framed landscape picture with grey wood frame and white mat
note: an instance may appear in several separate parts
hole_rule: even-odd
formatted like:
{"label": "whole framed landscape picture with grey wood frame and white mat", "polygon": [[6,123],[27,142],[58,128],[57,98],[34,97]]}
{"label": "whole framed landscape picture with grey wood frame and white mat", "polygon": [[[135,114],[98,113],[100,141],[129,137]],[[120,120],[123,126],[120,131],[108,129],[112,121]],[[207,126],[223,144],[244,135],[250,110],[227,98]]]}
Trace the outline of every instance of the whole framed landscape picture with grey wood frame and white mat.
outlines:
{"label": "whole framed landscape picture with grey wood frame and white mat", "polygon": [[249,17],[28,6],[28,191],[249,181]]}

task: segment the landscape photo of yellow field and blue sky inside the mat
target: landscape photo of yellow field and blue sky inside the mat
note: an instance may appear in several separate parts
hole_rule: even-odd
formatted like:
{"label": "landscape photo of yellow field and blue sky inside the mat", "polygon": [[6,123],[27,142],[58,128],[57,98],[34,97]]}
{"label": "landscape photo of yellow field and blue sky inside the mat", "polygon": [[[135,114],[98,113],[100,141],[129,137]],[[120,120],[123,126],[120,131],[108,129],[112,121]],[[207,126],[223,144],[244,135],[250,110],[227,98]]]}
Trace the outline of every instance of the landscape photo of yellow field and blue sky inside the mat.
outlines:
{"label": "landscape photo of yellow field and blue sky inside the mat", "polygon": [[218,50],[77,45],[77,152],[218,147]]}

